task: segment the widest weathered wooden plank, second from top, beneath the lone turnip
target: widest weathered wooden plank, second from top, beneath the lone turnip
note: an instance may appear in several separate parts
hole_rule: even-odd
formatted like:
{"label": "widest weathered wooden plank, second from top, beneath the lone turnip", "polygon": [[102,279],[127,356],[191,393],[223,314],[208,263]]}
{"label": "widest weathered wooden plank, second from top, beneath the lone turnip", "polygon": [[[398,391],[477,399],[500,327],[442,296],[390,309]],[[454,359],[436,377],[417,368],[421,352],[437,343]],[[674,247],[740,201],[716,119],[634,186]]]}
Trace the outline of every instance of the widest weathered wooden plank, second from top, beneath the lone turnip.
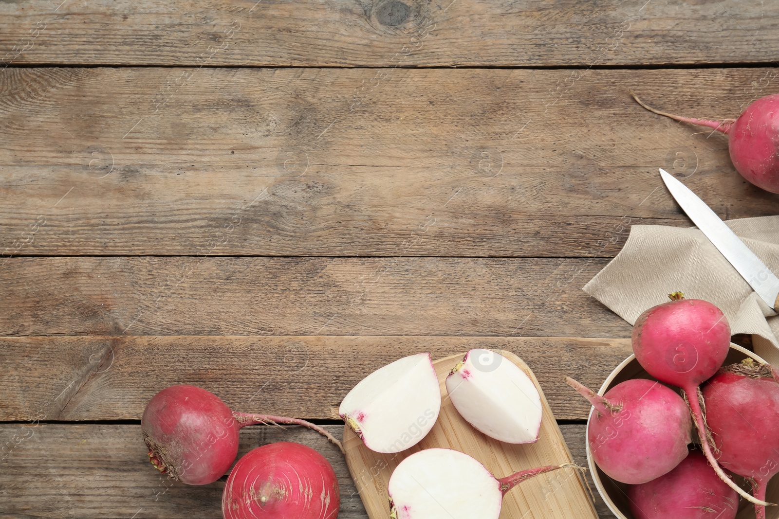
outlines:
{"label": "widest weathered wooden plank, second from top, beneath the lone turnip", "polygon": [[657,167],[779,212],[724,136],[627,92],[732,116],[774,69],[379,72],[7,69],[0,254],[613,257],[689,225]]}

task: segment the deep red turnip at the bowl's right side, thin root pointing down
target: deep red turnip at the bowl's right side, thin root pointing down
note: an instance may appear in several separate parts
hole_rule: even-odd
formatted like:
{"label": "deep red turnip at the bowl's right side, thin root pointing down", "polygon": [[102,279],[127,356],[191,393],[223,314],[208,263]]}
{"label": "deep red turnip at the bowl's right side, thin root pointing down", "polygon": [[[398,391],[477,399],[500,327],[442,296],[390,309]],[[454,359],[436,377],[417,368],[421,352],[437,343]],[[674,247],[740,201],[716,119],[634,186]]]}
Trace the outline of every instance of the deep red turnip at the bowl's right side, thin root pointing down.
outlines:
{"label": "deep red turnip at the bowl's right side, thin root pointing down", "polygon": [[[706,422],[724,468],[752,483],[764,501],[768,482],[779,472],[779,384],[772,369],[753,359],[724,367],[703,386]],[[757,519],[765,507],[756,505]]]}

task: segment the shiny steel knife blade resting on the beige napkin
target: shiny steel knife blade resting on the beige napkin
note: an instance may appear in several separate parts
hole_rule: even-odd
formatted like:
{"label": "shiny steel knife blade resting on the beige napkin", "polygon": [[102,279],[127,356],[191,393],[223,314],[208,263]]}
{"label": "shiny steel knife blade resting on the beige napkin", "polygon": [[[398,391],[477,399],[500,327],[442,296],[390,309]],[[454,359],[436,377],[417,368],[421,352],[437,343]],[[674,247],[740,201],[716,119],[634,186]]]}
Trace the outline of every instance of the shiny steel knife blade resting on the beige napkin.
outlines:
{"label": "shiny steel knife blade resting on the beige napkin", "polygon": [[731,265],[746,279],[760,299],[769,307],[779,311],[779,279],[771,272],[753,251],[749,250],[741,238],[712,211],[703,200],[690,191],[685,184],[676,180],[665,170],[660,170],[668,191],[682,206],[684,212],[703,234],[717,247],[717,250],[731,262]]}

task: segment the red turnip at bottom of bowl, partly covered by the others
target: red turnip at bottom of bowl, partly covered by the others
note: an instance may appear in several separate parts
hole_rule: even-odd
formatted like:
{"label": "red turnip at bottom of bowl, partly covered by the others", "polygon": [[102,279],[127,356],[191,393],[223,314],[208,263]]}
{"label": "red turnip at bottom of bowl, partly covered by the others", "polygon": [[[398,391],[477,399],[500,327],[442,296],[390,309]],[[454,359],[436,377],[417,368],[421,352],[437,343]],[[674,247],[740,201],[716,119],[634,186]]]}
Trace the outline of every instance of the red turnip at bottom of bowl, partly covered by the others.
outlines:
{"label": "red turnip at bottom of bowl, partly covered by the others", "polygon": [[738,494],[719,478],[700,451],[671,472],[628,487],[635,519],[734,519]]}

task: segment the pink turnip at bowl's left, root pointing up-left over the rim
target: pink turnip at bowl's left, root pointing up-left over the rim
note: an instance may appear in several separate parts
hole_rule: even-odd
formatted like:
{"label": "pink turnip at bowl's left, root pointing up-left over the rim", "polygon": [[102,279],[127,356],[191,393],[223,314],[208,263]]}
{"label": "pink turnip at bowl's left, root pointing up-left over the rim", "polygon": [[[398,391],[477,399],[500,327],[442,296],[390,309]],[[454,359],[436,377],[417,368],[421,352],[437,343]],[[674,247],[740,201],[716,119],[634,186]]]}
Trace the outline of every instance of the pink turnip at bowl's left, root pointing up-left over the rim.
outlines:
{"label": "pink turnip at bowl's left, root pointing up-left over the rim", "polygon": [[692,441],[693,423],[682,397],[654,380],[634,378],[604,396],[571,377],[566,382],[590,401],[590,453],[608,477],[636,485],[679,465]]}

